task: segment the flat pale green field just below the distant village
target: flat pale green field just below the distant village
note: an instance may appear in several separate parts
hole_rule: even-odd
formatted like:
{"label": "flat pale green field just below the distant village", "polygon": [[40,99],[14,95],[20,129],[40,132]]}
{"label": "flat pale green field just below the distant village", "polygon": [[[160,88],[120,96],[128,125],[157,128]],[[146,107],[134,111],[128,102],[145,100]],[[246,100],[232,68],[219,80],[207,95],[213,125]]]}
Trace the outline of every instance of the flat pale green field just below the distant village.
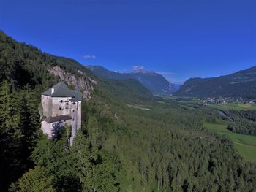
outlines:
{"label": "flat pale green field just below the distant village", "polygon": [[229,104],[210,104],[208,106],[218,110],[256,110],[256,104],[244,104],[241,102]]}

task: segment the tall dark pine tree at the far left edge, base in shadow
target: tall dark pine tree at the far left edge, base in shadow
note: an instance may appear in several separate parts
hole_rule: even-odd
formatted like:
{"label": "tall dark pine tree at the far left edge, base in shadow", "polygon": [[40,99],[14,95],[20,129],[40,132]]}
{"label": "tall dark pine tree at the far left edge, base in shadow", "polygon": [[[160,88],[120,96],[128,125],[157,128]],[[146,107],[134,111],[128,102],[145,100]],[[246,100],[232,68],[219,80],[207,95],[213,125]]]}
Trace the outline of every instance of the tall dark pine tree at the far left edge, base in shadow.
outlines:
{"label": "tall dark pine tree at the far left edge, base in shadow", "polygon": [[11,91],[11,85],[4,80],[0,86],[0,188],[19,177],[23,172],[20,164],[20,115],[15,105],[17,100]]}

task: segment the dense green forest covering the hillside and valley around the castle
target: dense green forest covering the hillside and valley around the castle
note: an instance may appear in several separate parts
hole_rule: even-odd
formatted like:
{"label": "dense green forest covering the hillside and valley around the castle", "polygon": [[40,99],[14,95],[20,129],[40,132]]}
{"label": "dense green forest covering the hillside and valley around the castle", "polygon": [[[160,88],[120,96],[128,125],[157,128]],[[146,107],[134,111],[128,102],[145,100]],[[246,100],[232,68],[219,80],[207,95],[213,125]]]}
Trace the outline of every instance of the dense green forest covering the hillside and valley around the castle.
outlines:
{"label": "dense green forest covering the hillside and valley around the castle", "polygon": [[[50,66],[94,78],[82,128],[40,130],[40,94],[59,82]],[[3,191],[254,191],[256,164],[203,123],[222,118],[162,99],[135,80],[100,80],[76,61],[42,53],[0,32],[0,188]],[[139,106],[139,107],[138,107]],[[246,114],[238,116],[250,117]],[[252,119],[251,119],[252,120]]]}

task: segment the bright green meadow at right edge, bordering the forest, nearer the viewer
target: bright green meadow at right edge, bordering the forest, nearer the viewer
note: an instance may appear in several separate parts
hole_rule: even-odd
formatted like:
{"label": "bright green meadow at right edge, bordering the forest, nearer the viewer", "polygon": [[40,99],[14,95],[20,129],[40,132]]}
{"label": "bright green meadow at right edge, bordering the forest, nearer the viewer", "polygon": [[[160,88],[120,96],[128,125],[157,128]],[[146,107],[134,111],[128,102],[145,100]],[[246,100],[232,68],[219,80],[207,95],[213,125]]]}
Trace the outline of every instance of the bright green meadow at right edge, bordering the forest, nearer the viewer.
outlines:
{"label": "bright green meadow at right edge, bordering the forest, nearer the viewer", "polygon": [[205,123],[204,127],[209,131],[214,131],[217,134],[226,135],[230,138],[238,150],[238,152],[247,160],[256,162],[256,137],[244,134],[235,134],[227,130],[227,125]]}

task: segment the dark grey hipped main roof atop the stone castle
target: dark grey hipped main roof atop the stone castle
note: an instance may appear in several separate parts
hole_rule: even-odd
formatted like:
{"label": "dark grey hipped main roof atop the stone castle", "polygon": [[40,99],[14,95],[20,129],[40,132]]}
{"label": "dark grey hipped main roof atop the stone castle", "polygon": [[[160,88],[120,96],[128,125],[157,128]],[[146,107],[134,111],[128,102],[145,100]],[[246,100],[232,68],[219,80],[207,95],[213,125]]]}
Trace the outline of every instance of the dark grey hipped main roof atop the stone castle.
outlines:
{"label": "dark grey hipped main roof atop the stone castle", "polygon": [[[52,88],[54,88],[53,94],[51,93]],[[82,101],[82,93],[78,90],[70,90],[64,82],[59,82],[56,85],[53,85],[52,88],[43,92],[42,95],[51,97],[72,97],[72,100],[74,101]]]}

